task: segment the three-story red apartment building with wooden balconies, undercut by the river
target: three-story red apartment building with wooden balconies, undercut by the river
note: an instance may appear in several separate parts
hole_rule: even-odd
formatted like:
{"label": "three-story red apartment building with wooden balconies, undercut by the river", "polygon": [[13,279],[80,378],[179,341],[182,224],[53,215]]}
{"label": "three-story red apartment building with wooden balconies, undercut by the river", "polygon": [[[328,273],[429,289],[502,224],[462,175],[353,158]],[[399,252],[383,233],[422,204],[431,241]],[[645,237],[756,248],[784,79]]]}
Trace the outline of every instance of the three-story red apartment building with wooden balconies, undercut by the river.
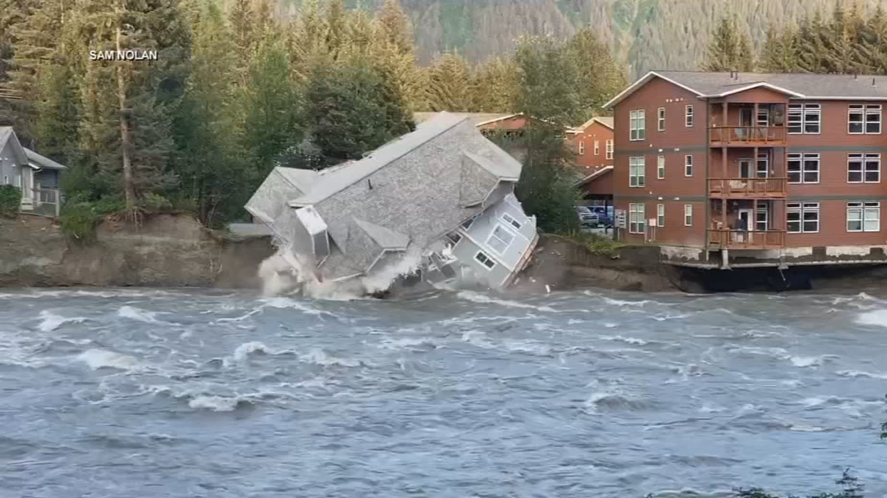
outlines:
{"label": "three-story red apartment building with wooden balconies, undercut by the river", "polygon": [[703,268],[884,262],[887,77],[650,72],[614,97],[627,242]]}

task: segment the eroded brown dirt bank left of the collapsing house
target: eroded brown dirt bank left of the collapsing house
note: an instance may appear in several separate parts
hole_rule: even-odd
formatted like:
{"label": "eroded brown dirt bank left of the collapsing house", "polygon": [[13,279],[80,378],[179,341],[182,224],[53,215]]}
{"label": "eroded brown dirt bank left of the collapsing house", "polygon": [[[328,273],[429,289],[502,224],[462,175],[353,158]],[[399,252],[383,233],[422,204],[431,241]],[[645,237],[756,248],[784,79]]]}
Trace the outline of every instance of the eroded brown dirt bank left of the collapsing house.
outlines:
{"label": "eroded brown dirt bank left of the collapsing house", "polygon": [[258,266],[274,253],[270,237],[219,235],[184,214],[103,222],[97,235],[70,243],[51,219],[0,218],[0,286],[258,288]]}

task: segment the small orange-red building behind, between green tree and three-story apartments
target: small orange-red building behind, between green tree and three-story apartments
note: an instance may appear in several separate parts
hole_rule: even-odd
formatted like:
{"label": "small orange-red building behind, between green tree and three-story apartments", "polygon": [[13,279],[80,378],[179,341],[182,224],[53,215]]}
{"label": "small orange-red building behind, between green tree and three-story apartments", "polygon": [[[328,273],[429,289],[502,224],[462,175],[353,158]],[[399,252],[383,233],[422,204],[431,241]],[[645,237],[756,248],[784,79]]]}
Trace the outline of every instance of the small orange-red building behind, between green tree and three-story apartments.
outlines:
{"label": "small orange-red building behind, between green tree and three-story apartments", "polygon": [[567,131],[586,200],[613,199],[613,118],[595,117]]}

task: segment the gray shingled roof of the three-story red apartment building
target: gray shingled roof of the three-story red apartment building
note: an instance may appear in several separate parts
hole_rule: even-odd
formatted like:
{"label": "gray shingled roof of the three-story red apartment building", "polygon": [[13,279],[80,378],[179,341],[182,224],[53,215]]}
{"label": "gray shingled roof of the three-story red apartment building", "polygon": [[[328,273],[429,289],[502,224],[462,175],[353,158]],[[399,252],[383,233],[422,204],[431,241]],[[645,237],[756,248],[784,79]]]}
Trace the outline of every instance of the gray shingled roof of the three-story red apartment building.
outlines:
{"label": "gray shingled roof of the three-story red apartment building", "polygon": [[[765,85],[783,89],[797,98],[816,99],[887,99],[887,76],[809,73],[705,73],[701,71],[650,71],[624,89],[606,106],[616,105],[650,79],[659,76],[675,82],[700,97],[714,97],[727,92]],[[874,83],[874,84],[873,84]]]}

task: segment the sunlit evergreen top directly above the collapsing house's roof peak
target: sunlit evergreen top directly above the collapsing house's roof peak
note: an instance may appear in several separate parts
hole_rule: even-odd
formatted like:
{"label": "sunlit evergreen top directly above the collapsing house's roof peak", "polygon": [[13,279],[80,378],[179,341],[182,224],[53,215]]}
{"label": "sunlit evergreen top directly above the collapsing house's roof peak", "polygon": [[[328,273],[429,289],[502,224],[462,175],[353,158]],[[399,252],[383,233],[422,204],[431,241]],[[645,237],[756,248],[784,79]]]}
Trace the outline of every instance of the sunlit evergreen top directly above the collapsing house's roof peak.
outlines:
{"label": "sunlit evergreen top directly above the collapsing house's roof peak", "polygon": [[427,99],[431,111],[468,111],[468,64],[458,53],[446,52],[431,62]]}

